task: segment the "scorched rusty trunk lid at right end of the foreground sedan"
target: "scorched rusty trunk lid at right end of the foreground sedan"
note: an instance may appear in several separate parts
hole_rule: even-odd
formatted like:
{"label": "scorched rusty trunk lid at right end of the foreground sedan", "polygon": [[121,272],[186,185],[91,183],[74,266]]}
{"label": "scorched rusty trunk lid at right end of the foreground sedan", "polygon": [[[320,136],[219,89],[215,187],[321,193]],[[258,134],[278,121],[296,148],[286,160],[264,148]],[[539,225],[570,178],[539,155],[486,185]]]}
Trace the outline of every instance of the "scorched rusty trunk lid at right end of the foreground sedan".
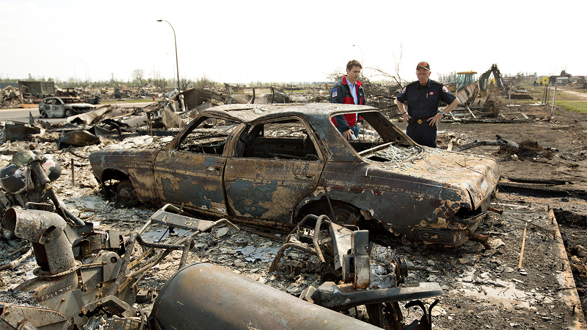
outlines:
{"label": "scorched rusty trunk lid at right end of the foreground sedan", "polygon": [[419,181],[424,179],[426,184],[466,190],[473,203],[472,209],[480,206],[494,192],[500,178],[494,159],[430,147],[421,148],[420,153],[397,163],[366,161],[369,166],[417,177]]}

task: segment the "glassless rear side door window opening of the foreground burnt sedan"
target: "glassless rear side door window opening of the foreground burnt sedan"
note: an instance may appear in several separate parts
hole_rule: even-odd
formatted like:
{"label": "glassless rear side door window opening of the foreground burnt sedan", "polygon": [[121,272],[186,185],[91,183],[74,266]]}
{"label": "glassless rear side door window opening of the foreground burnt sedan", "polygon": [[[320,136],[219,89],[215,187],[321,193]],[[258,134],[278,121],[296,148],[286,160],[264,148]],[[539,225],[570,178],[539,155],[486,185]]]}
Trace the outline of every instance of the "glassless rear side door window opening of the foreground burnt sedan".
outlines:
{"label": "glassless rear side door window opening of the foreground burnt sedan", "polygon": [[296,119],[257,124],[241,136],[244,146],[237,156],[265,159],[319,160],[305,125]]}

